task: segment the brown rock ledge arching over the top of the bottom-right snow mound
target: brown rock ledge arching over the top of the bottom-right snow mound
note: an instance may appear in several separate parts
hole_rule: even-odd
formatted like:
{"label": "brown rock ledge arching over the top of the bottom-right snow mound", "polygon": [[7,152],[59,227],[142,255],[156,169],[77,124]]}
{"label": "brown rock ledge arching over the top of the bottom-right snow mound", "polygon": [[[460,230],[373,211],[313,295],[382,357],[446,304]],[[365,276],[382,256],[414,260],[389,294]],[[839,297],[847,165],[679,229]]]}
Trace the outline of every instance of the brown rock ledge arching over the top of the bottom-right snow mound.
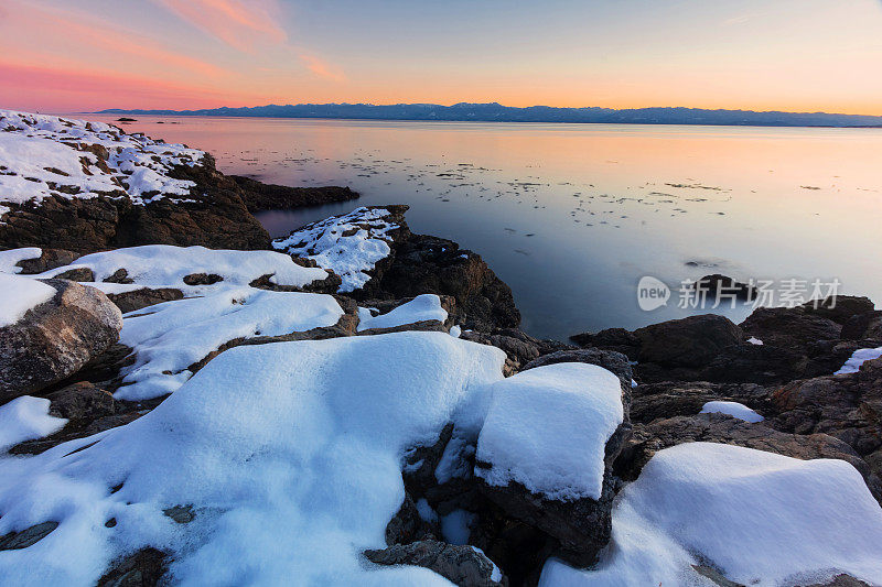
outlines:
{"label": "brown rock ledge arching over the top of the bottom-right snow mound", "polygon": [[725,414],[695,414],[635,424],[615,460],[615,472],[634,480],[657,452],[684,443],[721,443],[794,458],[838,458],[852,465],[863,476],[870,491],[882,499],[882,482],[876,471],[847,443],[827,434],[788,434],[765,423],[751,424]]}

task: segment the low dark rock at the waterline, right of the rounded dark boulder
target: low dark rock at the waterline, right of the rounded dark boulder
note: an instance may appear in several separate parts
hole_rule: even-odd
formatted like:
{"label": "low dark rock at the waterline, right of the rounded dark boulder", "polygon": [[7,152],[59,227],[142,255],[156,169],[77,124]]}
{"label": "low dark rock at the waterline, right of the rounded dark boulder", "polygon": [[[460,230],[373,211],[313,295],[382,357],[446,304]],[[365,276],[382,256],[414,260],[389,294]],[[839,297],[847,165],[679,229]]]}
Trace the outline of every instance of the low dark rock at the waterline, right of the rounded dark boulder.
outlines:
{"label": "low dark rock at the waterline, right of the rounded dark boulder", "polygon": [[818,340],[838,340],[842,327],[805,307],[757,307],[741,323],[763,345],[802,349]]}

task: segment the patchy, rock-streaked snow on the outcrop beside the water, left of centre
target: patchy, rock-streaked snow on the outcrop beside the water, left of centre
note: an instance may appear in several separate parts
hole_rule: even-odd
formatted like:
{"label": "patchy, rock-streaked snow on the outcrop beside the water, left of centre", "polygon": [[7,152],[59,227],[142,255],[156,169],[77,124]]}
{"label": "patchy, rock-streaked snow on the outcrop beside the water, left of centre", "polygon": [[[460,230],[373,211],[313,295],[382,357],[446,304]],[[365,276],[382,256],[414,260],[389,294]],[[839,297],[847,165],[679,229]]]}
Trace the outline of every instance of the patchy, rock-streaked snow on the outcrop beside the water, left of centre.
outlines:
{"label": "patchy, rock-streaked snow on the outcrop beside the water, left of centre", "polygon": [[391,252],[389,232],[398,225],[384,220],[389,214],[385,208],[356,208],[294,230],[272,247],[332,270],[343,280],[340,292],[352,292],[363,287],[370,280],[367,272]]}

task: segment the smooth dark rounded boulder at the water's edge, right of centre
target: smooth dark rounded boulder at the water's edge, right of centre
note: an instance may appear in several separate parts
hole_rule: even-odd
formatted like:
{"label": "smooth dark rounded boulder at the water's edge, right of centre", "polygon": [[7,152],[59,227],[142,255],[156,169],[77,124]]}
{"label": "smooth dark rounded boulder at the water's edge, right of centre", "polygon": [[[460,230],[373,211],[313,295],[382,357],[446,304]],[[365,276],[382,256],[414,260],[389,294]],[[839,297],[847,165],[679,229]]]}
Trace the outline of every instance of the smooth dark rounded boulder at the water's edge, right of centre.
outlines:
{"label": "smooth dark rounded boulder at the water's edge, right of centre", "polygon": [[732,320],[716,314],[689,316],[634,330],[641,341],[639,361],[669,367],[701,367],[721,350],[744,339]]}

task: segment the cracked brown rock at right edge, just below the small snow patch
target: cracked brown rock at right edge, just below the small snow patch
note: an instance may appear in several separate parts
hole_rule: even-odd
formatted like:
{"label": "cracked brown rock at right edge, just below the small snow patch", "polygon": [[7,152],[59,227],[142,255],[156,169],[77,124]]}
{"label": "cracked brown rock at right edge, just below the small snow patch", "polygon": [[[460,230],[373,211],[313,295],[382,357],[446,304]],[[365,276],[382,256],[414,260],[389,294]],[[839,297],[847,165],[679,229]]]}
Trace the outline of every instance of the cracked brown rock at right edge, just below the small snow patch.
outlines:
{"label": "cracked brown rock at right edge, just below the small snow patch", "polygon": [[850,445],[882,476],[882,359],[857,373],[794,381],[772,394],[772,425],[796,434],[829,434]]}

